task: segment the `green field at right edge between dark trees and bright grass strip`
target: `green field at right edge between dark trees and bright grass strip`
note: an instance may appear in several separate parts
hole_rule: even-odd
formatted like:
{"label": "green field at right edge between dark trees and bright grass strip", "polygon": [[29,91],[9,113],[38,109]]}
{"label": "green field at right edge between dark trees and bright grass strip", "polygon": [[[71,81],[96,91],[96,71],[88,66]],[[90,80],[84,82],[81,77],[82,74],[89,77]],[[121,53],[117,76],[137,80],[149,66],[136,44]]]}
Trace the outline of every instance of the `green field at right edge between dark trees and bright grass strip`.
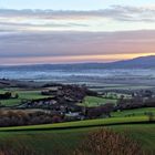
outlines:
{"label": "green field at right edge between dark trees and bright grass strip", "polygon": [[112,116],[114,117],[126,117],[130,115],[141,116],[145,115],[145,113],[152,112],[155,115],[155,107],[144,107],[144,108],[135,108],[135,110],[125,110],[122,112],[113,112]]}

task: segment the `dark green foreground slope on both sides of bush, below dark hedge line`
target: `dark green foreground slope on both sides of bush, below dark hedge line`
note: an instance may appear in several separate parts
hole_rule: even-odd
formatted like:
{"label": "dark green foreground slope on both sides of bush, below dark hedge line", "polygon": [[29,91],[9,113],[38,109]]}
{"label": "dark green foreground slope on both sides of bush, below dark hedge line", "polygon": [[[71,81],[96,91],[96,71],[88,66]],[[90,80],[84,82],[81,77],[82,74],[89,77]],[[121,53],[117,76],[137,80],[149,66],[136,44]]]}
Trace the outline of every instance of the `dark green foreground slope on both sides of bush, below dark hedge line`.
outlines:
{"label": "dark green foreground slope on both sides of bush, below dark hedge line", "polygon": [[[136,140],[147,152],[155,152],[155,124],[116,125],[110,127]],[[9,141],[14,147],[19,147],[20,144],[24,144],[30,148],[32,147],[39,155],[45,153],[46,155],[66,155],[73,152],[90,132],[95,130],[96,127],[11,133],[0,132],[0,144]]]}

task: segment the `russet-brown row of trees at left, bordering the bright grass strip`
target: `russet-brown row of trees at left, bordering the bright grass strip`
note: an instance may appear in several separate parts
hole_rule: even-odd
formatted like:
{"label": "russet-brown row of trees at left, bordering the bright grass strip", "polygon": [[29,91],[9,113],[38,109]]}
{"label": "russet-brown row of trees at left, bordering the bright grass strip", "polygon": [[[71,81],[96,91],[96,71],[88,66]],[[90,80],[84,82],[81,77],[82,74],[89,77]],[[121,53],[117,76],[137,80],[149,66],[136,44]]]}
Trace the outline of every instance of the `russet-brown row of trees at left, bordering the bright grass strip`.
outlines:
{"label": "russet-brown row of trees at left, bordering the bright grass strip", "polygon": [[0,112],[0,126],[37,125],[62,122],[60,115],[46,114],[44,112]]}

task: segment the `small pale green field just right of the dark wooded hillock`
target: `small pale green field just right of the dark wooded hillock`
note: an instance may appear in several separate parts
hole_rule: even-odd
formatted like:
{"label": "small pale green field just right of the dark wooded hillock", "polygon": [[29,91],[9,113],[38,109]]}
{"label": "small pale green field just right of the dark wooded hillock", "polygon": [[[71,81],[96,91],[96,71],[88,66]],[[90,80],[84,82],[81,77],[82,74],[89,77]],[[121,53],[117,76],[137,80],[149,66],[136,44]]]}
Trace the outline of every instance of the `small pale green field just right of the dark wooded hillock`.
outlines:
{"label": "small pale green field just right of the dark wooded hillock", "polygon": [[93,107],[93,106],[100,106],[104,105],[106,103],[116,103],[116,100],[110,100],[104,97],[96,97],[96,96],[86,96],[83,101],[83,103],[80,103],[80,105]]}

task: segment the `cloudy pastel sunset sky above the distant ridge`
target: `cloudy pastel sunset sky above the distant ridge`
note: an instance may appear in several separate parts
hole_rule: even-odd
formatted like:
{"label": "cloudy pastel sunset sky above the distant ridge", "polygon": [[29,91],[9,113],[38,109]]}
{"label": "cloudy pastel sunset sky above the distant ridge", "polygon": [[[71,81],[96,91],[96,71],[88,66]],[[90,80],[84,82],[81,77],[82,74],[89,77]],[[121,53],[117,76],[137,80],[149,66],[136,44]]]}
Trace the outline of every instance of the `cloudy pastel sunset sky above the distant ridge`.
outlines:
{"label": "cloudy pastel sunset sky above the distant ridge", "polygon": [[155,54],[155,0],[0,0],[0,64]]}

